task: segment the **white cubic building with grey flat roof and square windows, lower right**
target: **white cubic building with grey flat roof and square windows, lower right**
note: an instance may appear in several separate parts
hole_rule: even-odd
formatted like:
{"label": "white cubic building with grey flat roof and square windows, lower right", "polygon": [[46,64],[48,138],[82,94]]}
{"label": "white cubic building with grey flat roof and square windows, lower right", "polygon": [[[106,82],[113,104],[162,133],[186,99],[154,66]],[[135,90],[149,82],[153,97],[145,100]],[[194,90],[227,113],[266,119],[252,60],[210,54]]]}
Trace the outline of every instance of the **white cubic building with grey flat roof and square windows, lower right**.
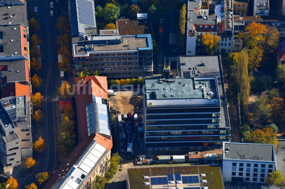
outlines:
{"label": "white cubic building with grey flat roof and square windows, lower right", "polygon": [[264,183],[275,170],[273,144],[223,142],[224,182]]}

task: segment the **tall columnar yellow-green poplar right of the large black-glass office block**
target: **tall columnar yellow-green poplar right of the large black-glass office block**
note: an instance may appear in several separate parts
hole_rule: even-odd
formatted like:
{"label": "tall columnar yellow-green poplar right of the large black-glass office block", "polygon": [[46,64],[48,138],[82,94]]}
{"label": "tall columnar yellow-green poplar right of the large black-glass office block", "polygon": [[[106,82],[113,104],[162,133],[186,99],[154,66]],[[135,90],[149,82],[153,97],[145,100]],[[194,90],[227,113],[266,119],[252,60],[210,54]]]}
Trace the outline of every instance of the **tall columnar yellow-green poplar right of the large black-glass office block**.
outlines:
{"label": "tall columnar yellow-green poplar right of the large black-glass office block", "polygon": [[238,65],[237,65],[237,84],[239,87],[239,100],[241,103],[241,112],[243,114],[247,111],[248,99],[249,99],[249,77],[247,72],[248,64],[248,55],[247,50],[243,49],[238,56]]}

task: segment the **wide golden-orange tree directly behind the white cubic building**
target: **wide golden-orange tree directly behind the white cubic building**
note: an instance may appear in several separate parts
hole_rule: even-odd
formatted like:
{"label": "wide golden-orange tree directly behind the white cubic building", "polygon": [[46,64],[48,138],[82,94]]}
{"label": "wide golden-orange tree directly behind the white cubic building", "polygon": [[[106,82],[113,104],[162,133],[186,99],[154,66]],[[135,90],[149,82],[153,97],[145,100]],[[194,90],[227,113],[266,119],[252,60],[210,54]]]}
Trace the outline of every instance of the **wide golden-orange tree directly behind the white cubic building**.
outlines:
{"label": "wide golden-orange tree directly behind the white cubic building", "polygon": [[243,141],[257,144],[274,144],[275,148],[277,148],[277,145],[279,144],[277,133],[274,133],[273,130],[268,127],[256,129],[253,132],[245,132]]}

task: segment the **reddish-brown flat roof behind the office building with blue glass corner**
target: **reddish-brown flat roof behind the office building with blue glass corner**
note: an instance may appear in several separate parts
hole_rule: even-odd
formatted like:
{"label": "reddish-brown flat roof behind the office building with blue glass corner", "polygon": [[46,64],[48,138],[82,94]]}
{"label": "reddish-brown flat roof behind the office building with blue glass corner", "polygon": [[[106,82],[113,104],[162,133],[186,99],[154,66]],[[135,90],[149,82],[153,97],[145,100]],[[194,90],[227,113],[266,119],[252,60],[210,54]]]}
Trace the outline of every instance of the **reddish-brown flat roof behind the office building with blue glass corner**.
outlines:
{"label": "reddish-brown flat roof behind the office building with blue glass corner", "polygon": [[116,20],[116,26],[120,35],[137,35],[151,32],[149,20],[118,19]]}

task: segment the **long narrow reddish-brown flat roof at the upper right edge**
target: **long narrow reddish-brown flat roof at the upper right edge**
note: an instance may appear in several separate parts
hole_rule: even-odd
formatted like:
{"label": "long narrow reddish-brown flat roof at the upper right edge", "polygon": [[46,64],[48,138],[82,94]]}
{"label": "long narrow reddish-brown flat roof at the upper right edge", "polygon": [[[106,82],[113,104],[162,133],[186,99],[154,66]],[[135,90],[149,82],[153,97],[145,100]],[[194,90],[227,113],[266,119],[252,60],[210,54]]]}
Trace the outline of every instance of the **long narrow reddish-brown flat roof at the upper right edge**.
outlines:
{"label": "long narrow reddish-brown flat roof at the upper right edge", "polygon": [[257,16],[242,16],[242,20],[239,20],[239,16],[234,16],[235,22],[245,21],[285,21],[285,16],[269,16],[269,15],[257,15]]}

